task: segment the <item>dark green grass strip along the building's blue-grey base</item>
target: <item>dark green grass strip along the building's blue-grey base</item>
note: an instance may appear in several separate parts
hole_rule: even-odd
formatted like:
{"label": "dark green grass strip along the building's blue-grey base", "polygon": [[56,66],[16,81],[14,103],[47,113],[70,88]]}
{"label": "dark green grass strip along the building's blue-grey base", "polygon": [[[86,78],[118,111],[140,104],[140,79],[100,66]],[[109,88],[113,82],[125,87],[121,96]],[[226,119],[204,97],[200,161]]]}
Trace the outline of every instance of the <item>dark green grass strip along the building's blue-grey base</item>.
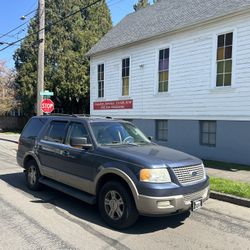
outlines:
{"label": "dark green grass strip along the building's blue-grey base", "polygon": [[204,160],[203,162],[205,167],[208,168],[222,169],[228,171],[237,171],[237,170],[250,171],[250,166],[247,165],[240,165],[240,164],[220,162],[220,161],[209,161],[209,160]]}

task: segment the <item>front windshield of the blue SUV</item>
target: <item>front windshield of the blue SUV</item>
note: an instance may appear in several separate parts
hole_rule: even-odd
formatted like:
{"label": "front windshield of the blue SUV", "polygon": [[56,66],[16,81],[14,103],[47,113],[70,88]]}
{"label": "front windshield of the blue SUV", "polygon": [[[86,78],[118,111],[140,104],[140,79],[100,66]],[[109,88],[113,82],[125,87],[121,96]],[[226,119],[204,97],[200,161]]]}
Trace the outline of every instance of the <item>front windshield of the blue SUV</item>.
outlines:
{"label": "front windshield of the blue SUV", "polygon": [[102,145],[150,143],[150,140],[130,123],[92,122],[90,126],[96,141]]}

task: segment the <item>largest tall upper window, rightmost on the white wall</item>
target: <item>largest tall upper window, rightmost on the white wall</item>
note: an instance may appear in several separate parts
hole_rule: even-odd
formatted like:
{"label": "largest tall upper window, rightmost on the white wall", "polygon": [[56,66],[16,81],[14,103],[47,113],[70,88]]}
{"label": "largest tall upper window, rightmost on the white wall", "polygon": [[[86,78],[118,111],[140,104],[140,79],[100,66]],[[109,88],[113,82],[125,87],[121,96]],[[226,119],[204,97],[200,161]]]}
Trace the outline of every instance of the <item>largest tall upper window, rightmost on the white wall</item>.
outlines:
{"label": "largest tall upper window, rightmost on the white wall", "polygon": [[232,84],[233,32],[218,36],[216,87]]}

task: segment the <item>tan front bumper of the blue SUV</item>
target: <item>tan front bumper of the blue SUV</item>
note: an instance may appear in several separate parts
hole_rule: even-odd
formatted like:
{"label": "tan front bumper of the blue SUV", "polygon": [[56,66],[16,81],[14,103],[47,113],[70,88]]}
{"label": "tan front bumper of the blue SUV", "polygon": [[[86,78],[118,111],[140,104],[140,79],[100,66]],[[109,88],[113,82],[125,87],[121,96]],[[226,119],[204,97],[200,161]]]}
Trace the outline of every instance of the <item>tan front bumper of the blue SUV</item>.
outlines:
{"label": "tan front bumper of the blue SUV", "polygon": [[194,200],[202,200],[204,203],[210,194],[209,186],[205,189],[185,194],[168,197],[150,197],[139,195],[137,198],[137,209],[142,215],[160,216],[176,212],[187,211],[191,209],[191,203]]}

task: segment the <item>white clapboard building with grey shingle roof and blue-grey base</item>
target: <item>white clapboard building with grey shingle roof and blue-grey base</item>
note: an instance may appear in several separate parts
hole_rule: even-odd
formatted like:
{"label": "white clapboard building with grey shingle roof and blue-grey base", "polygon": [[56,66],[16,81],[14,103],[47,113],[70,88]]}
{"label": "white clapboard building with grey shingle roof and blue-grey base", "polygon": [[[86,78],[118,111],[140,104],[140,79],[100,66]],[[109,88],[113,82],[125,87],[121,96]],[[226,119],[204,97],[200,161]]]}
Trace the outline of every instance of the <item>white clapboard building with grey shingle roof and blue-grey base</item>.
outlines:
{"label": "white clapboard building with grey shingle roof and blue-grey base", "polygon": [[250,0],[162,0],[89,52],[91,114],[203,159],[250,164]]}

